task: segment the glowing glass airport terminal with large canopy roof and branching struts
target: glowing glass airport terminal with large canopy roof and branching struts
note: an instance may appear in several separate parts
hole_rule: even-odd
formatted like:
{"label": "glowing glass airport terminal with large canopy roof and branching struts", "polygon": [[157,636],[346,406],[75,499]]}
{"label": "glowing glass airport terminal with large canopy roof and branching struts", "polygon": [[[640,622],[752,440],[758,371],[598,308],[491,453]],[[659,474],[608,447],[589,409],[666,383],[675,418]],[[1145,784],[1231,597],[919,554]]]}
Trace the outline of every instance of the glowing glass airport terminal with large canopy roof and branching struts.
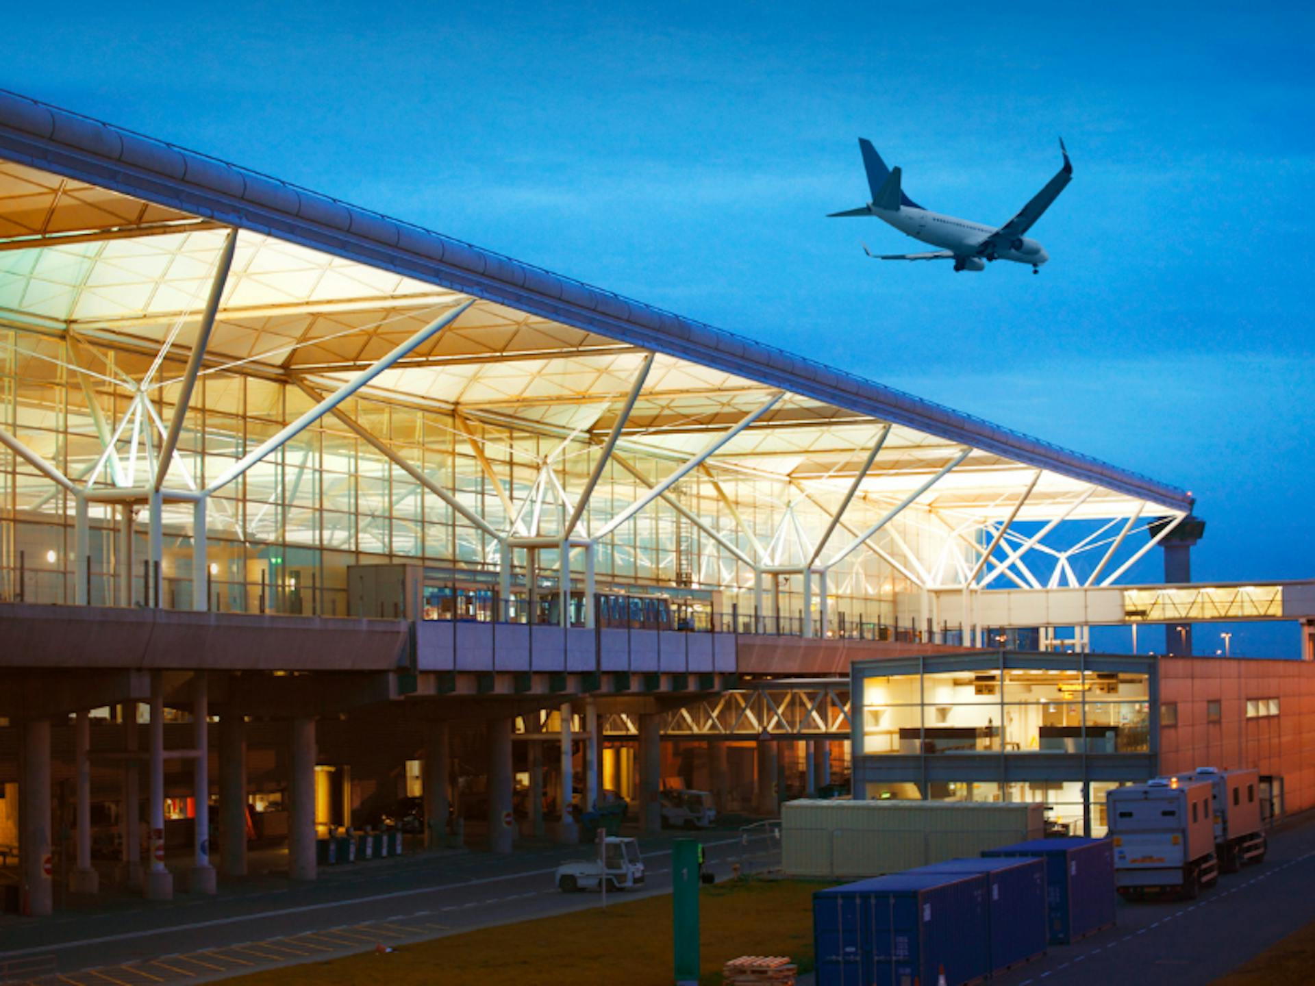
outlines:
{"label": "glowing glass airport terminal with large canopy roof and branching struts", "polygon": [[[175,820],[195,891],[245,872],[252,812],[310,880],[317,831],[406,795],[498,852],[554,801],[573,837],[560,806],[602,790],[655,827],[676,777],[769,814],[792,772],[840,773],[851,731],[856,797],[1094,797],[1153,772],[1180,686],[1086,655],[1090,626],[1165,624],[1186,655],[1194,622],[1297,619],[1312,656],[1311,584],[1186,584],[1191,510],[0,93],[0,843],[30,912],[59,827],[97,886],[93,805],[122,878],[167,897]],[[1161,548],[1169,584],[1126,585]],[[1041,711],[1074,695],[1076,722]]]}

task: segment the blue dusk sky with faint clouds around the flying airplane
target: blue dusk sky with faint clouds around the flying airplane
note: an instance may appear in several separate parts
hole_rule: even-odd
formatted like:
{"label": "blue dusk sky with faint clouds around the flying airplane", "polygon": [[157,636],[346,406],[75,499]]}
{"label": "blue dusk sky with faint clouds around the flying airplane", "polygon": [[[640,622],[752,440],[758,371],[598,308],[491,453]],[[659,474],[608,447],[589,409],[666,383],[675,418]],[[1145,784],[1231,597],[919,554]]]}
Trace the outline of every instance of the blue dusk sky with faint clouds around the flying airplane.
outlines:
{"label": "blue dusk sky with faint clouds around the flying airplane", "polygon": [[[1315,7],[1070,7],[21,4],[0,85],[1190,489],[1195,578],[1315,576]],[[1003,223],[1059,134],[1040,276],[825,218],[856,137]]]}

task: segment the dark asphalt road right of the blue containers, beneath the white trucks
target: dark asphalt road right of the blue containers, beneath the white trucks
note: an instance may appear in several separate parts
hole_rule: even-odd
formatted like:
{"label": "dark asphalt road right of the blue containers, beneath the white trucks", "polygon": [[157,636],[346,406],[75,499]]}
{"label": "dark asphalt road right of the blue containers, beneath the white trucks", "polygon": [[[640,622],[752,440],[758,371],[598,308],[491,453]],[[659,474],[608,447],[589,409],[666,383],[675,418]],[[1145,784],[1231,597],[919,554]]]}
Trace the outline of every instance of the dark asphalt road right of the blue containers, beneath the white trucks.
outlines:
{"label": "dark asphalt road right of the blue containers, beneath the white trucks", "polygon": [[[1002,986],[1203,986],[1315,920],[1315,823],[1195,901],[1119,902],[1116,926],[997,979]],[[1315,981],[1315,970],[1311,973]]]}

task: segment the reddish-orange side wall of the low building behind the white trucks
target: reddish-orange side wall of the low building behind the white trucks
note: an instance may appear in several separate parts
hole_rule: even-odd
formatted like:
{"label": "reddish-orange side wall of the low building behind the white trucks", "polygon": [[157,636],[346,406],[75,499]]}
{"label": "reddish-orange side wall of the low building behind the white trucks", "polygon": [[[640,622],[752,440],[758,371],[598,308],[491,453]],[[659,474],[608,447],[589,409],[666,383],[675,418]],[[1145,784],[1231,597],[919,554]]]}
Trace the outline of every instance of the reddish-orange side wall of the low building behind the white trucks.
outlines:
{"label": "reddish-orange side wall of the low building behind the white trucks", "polygon": [[[1247,699],[1277,698],[1279,714],[1247,718]],[[1220,716],[1208,720],[1208,703]],[[1255,766],[1283,777],[1287,812],[1315,807],[1315,663],[1164,657],[1160,702],[1177,724],[1160,726],[1160,770]]]}

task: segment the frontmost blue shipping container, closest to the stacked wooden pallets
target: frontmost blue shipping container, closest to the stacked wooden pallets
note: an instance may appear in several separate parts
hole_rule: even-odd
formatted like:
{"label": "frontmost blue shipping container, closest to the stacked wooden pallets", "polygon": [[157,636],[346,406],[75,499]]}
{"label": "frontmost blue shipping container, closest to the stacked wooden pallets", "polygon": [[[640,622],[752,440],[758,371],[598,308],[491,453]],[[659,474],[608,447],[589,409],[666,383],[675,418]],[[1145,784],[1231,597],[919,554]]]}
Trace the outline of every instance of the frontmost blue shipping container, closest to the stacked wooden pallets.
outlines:
{"label": "frontmost blue shipping container, closest to the stacked wooden pallets", "polygon": [[813,894],[817,986],[949,986],[989,973],[986,878],[894,873]]}

